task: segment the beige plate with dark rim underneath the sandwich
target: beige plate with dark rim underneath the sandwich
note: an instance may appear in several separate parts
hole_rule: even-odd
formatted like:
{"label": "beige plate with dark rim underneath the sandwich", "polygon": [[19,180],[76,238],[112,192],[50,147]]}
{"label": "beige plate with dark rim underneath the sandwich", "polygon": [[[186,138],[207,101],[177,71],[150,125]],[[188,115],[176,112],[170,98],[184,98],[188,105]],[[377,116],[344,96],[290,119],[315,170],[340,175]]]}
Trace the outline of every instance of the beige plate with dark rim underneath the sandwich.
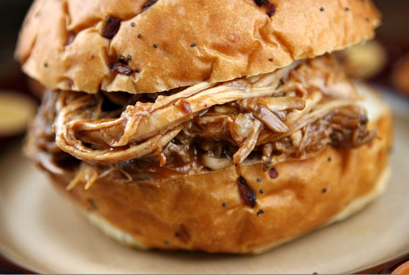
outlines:
{"label": "beige plate with dark rim underneath the sandwich", "polygon": [[346,273],[409,252],[409,101],[395,112],[387,192],[350,219],[260,256],[139,251],[90,226],[18,148],[0,161],[0,253],[40,273]]}

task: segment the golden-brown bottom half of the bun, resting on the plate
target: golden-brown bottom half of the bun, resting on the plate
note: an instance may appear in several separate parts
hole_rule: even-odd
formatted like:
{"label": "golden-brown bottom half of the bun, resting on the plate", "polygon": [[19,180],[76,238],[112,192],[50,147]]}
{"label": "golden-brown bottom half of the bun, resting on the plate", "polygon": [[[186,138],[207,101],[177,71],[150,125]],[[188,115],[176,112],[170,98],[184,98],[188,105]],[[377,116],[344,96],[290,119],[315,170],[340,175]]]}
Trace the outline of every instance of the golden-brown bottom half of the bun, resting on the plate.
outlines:
{"label": "golden-brown bottom half of the bun, resting on the plate", "polygon": [[[124,244],[258,253],[343,219],[382,191],[391,112],[377,94],[367,102],[370,126],[378,131],[371,144],[358,149],[327,146],[305,161],[278,164],[276,178],[263,172],[262,164],[194,175],[158,169],[156,178],[100,178],[88,190],[78,185],[66,191],[71,178],[50,175],[94,224]],[[254,208],[241,201],[240,177],[257,196]]]}

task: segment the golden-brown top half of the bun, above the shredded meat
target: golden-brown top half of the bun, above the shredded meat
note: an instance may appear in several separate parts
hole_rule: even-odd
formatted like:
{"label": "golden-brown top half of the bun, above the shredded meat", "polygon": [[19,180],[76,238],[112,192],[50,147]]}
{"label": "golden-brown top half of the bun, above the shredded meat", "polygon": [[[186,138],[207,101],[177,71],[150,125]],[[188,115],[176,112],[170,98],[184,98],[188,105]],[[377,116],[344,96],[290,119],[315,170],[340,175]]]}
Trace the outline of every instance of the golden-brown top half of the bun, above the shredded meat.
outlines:
{"label": "golden-brown top half of the bun, above the shredded meat", "polygon": [[15,55],[50,89],[151,93],[344,49],[379,16],[370,0],[36,0]]}

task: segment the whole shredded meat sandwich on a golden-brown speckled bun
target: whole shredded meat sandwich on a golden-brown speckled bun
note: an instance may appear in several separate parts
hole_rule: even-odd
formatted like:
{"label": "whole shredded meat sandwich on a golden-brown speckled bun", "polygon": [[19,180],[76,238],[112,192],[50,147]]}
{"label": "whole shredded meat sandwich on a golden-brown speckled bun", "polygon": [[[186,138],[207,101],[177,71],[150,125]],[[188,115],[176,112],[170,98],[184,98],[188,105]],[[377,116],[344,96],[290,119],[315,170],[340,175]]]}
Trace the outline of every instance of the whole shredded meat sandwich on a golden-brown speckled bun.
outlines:
{"label": "whole shredded meat sandwich on a golden-brown speckled bun", "polygon": [[390,111],[330,54],[378,24],[369,0],[37,0],[26,152],[123,244],[259,253],[383,189]]}

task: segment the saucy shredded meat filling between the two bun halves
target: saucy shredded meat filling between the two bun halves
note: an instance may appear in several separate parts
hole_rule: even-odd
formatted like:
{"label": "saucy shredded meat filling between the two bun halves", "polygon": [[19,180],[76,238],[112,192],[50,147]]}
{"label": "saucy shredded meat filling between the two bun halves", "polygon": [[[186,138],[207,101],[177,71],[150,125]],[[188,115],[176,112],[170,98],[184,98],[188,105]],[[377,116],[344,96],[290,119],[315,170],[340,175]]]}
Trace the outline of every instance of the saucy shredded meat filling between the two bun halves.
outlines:
{"label": "saucy shredded meat filling between the two bun halves", "polygon": [[146,165],[197,173],[260,161],[267,170],[327,145],[369,143],[375,130],[356,101],[331,55],[163,93],[47,91],[27,147],[54,173],[83,161],[72,186],[114,170],[131,180]]}

